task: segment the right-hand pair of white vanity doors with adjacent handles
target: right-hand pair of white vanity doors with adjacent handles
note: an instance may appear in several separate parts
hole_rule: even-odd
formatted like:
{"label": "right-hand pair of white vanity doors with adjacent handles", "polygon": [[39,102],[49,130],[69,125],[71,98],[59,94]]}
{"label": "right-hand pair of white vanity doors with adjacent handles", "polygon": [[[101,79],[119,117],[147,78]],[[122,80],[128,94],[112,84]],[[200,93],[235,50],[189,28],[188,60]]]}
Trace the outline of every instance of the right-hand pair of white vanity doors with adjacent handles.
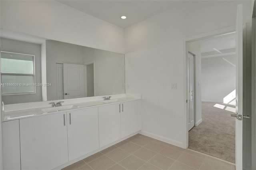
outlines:
{"label": "right-hand pair of white vanity doors with adjacent handles", "polygon": [[100,147],[138,131],[137,101],[98,107]]}

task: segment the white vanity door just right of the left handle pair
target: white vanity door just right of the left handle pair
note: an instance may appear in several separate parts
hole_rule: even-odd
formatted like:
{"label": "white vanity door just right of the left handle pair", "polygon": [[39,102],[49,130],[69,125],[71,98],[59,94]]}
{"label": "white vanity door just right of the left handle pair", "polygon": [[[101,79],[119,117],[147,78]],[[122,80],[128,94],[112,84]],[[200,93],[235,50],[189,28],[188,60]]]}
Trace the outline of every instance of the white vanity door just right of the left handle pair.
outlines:
{"label": "white vanity door just right of the left handle pair", "polygon": [[69,161],[99,148],[98,107],[67,112]]}

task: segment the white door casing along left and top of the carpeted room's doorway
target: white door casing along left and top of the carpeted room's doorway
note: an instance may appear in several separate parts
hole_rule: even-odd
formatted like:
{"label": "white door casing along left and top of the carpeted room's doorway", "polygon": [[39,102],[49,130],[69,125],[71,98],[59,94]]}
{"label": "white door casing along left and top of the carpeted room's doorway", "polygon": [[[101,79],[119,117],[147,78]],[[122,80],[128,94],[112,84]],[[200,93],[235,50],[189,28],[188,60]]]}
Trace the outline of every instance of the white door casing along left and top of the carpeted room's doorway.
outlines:
{"label": "white door casing along left and top of the carpeted room's doorway", "polygon": [[[187,43],[188,42],[192,42],[192,41],[196,41],[196,40],[200,40],[202,38],[207,38],[207,37],[212,37],[212,36],[219,36],[219,35],[223,35],[223,34],[230,34],[230,32],[234,32],[236,29],[235,29],[235,26],[232,26],[232,27],[228,27],[228,28],[222,28],[222,29],[219,29],[219,30],[214,30],[212,32],[206,32],[206,33],[203,33],[203,34],[198,34],[198,35],[194,35],[194,36],[190,36],[190,37],[186,37],[183,39],[183,68],[184,68],[184,73],[185,73],[185,76],[183,76],[183,81],[184,81],[184,86],[183,86],[183,90],[184,90],[184,110],[183,110],[183,114],[184,114],[184,124],[183,124],[183,133],[182,135],[183,136],[183,146],[182,148],[188,148],[188,117],[187,117],[187,108],[186,108],[186,99],[188,99],[188,96],[187,96],[187,67],[186,67],[186,62],[187,62]],[[196,92],[198,93],[198,92]]]}

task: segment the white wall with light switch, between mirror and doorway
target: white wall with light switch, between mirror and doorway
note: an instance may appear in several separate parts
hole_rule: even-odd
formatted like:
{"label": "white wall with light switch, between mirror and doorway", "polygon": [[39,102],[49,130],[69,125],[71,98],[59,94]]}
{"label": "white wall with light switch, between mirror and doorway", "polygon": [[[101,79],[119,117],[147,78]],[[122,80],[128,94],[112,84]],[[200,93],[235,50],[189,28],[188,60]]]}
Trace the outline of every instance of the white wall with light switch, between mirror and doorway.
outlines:
{"label": "white wall with light switch, between mirror and doorway", "polygon": [[250,1],[177,2],[125,29],[126,93],[142,93],[145,134],[186,147],[183,39],[234,26],[240,3],[250,17]]}

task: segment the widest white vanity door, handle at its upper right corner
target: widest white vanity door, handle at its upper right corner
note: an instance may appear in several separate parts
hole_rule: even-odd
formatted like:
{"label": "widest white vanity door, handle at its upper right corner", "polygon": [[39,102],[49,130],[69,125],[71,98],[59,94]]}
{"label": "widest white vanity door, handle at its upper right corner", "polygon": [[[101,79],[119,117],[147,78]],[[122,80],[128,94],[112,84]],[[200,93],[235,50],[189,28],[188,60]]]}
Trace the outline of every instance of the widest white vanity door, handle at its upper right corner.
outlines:
{"label": "widest white vanity door, handle at its upper right corner", "polygon": [[20,120],[22,170],[50,170],[68,162],[66,112]]}

